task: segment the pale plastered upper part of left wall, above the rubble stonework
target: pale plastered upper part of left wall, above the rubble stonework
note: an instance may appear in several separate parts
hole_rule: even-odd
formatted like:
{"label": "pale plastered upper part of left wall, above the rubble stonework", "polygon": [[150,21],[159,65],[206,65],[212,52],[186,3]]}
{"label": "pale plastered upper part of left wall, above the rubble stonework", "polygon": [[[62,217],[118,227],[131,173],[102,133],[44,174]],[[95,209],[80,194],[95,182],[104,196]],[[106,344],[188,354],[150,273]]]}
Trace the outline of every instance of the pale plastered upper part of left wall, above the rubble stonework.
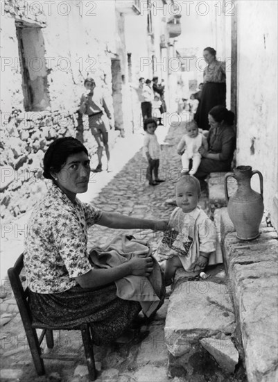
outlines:
{"label": "pale plastered upper part of left wall, above the rubble stonework", "polygon": [[[10,58],[10,62],[7,58],[9,65],[2,73],[3,81],[7,83],[7,86],[2,86],[1,92],[3,112],[10,113],[12,106],[24,110],[15,20],[24,22],[28,28],[42,27],[42,36],[32,41],[27,35],[31,32],[24,29],[25,48],[32,58],[44,57],[45,65],[40,71],[30,65],[28,71],[31,81],[47,74],[47,93],[52,111],[67,110],[72,113],[76,110],[87,75],[93,76],[97,85],[103,87],[109,98],[108,103],[112,105],[111,58],[117,55],[116,41],[119,40],[114,0],[64,1],[64,8],[62,3],[50,6],[46,1],[37,1],[44,13],[44,22],[37,20],[28,6],[24,8],[24,3],[28,5],[26,1],[5,1],[2,9],[4,32],[1,40],[5,47],[2,55]],[[110,27],[103,28],[104,23]],[[13,86],[10,86],[10,81]]]}

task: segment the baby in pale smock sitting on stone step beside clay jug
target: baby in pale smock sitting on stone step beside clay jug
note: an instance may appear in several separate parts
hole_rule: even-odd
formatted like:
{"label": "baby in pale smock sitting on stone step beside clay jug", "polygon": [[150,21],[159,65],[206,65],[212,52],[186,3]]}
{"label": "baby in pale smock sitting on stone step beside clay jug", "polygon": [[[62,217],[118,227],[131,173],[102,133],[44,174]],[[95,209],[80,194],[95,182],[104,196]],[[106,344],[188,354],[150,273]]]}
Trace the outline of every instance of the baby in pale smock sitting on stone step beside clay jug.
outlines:
{"label": "baby in pale smock sitting on stone step beside clay jug", "polygon": [[164,280],[172,283],[177,268],[186,272],[200,272],[207,264],[222,263],[216,261],[217,233],[209,217],[198,206],[200,182],[195,176],[182,175],[175,186],[177,208],[173,210],[159,244],[157,254],[160,260],[166,260]]}

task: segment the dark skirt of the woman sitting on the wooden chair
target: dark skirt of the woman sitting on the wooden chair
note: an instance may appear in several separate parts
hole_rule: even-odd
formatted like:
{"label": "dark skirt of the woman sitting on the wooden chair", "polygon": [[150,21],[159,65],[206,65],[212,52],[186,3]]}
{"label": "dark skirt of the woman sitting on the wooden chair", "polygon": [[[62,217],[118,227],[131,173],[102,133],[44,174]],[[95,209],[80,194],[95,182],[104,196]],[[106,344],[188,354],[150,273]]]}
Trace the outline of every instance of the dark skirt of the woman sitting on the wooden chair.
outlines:
{"label": "dark skirt of the woman sitting on the wooden chair", "polygon": [[35,323],[69,329],[85,322],[92,323],[95,344],[109,344],[130,326],[141,310],[137,301],[116,297],[116,285],[98,290],[79,285],[62,293],[30,292],[30,304]]}

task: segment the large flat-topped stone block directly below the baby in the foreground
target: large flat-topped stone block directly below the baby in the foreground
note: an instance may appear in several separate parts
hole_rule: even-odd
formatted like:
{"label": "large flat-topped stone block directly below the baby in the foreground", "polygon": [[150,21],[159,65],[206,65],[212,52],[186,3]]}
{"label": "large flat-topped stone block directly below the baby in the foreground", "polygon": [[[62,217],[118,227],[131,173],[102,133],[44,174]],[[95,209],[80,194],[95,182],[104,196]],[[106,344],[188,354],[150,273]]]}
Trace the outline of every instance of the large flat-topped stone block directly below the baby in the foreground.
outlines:
{"label": "large flat-topped stone block directly below the baby in the foreground", "polygon": [[173,356],[188,352],[200,337],[233,333],[234,328],[232,301],[224,284],[187,281],[173,290],[164,328]]}

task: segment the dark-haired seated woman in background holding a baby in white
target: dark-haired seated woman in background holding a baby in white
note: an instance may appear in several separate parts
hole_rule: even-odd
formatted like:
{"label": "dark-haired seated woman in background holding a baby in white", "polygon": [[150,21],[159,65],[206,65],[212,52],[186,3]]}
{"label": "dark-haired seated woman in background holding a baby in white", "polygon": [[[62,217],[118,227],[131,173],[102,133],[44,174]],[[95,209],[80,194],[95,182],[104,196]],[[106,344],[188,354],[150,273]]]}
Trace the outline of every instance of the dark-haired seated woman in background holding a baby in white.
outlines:
{"label": "dark-haired seated woman in background holding a baby in white", "polygon": [[225,106],[214,106],[209,110],[211,126],[207,134],[209,149],[206,151],[204,147],[200,147],[202,160],[195,174],[200,181],[204,181],[211,172],[227,172],[231,169],[236,148],[233,124],[234,113]]}

